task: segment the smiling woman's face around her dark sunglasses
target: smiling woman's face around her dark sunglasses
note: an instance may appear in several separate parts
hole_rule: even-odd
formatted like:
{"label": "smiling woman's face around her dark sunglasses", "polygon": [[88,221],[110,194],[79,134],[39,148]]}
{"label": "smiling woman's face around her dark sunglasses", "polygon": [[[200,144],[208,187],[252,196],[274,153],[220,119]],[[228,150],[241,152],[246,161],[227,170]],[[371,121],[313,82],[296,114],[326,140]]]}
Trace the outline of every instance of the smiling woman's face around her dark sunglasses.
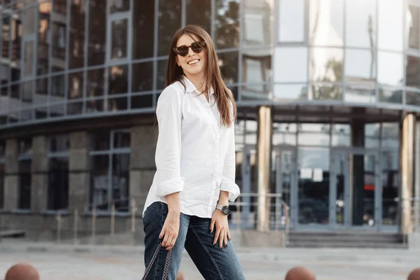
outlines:
{"label": "smiling woman's face around her dark sunglasses", "polygon": [[[191,36],[193,36],[194,39],[191,38]],[[200,42],[200,39],[197,38],[197,36],[191,36],[188,34],[183,34],[183,36],[178,39],[178,42],[176,42],[176,48],[181,46],[190,47],[191,44]],[[197,47],[197,45],[193,46]],[[199,46],[202,48],[201,52],[194,52],[193,48],[188,48],[188,52],[185,56],[182,56],[179,53],[176,54],[176,63],[182,67],[186,76],[202,76],[204,74],[204,67],[207,60],[207,50],[205,45]]]}

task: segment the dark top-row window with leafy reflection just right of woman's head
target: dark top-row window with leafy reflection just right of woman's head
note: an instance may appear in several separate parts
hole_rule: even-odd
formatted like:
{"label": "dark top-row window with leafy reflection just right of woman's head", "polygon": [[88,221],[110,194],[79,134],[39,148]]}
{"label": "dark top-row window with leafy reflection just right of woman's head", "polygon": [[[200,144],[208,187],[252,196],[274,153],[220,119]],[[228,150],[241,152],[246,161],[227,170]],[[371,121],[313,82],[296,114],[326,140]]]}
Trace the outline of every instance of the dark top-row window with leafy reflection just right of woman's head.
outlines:
{"label": "dark top-row window with leafy reflection just right of woman's head", "polygon": [[239,0],[215,0],[214,42],[216,48],[239,45]]}

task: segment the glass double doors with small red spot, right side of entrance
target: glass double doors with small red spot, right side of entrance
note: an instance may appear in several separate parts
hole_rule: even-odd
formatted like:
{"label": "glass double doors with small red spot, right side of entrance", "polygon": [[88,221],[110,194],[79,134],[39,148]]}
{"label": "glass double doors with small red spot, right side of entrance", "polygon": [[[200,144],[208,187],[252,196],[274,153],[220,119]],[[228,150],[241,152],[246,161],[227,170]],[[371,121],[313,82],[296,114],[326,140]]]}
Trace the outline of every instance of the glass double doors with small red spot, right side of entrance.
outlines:
{"label": "glass double doors with small red spot, right side of entrance", "polygon": [[330,225],[379,230],[377,153],[333,151],[330,174]]}

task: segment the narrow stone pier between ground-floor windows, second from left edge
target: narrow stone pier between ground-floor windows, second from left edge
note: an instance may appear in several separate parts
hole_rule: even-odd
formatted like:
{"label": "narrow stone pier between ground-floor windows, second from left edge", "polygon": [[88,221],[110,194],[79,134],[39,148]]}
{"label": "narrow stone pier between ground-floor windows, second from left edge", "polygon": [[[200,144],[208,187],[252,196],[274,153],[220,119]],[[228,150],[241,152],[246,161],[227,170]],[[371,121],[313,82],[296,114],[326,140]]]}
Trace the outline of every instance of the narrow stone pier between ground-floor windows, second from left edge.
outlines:
{"label": "narrow stone pier between ground-floor windows, second from left edge", "polygon": [[48,151],[47,137],[32,139],[31,211],[42,213],[47,209]]}

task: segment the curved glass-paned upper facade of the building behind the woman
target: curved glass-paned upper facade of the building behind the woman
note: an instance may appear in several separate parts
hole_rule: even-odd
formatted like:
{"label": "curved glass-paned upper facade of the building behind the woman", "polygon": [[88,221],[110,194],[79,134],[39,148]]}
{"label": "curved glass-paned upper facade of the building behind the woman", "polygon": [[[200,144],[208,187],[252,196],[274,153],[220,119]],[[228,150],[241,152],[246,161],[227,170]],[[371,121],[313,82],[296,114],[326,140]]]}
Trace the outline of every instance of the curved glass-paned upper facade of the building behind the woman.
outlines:
{"label": "curved glass-paned upper facade of the building behind the woman", "polygon": [[0,128],[153,113],[171,36],[188,24],[214,38],[238,106],[419,111],[413,2],[3,0]]}

